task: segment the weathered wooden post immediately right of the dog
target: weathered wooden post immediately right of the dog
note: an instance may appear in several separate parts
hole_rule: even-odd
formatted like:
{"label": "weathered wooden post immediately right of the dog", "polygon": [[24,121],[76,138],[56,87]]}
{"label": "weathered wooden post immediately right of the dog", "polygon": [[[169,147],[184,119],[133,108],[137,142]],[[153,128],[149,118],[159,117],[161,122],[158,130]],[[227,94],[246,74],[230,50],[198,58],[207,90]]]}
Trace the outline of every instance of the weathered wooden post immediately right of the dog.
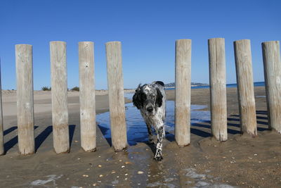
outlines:
{"label": "weathered wooden post immediately right of the dog", "polygon": [[178,146],[190,144],[191,39],[176,40],[175,138]]}

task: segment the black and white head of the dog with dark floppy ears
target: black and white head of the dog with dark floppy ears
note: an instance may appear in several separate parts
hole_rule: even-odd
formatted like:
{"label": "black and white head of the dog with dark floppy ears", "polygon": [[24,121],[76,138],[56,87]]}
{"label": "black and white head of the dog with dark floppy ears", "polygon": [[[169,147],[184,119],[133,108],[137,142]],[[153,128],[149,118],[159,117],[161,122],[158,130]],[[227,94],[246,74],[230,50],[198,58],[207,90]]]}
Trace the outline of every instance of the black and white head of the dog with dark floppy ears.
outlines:
{"label": "black and white head of the dog with dark floppy ears", "polygon": [[133,105],[142,110],[145,115],[155,115],[157,107],[162,106],[163,95],[156,84],[138,85],[133,95]]}

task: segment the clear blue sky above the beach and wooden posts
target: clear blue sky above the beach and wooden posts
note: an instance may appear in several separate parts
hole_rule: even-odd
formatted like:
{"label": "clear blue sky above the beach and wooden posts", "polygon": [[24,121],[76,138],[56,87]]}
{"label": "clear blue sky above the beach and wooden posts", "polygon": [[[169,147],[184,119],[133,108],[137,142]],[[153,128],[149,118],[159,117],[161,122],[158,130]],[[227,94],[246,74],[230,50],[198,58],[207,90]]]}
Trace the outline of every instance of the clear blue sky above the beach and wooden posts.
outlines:
{"label": "clear blue sky above the beach and wooden posts", "polygon": [[174,82],[175,41],[192,39],[192,82],[209,83],[207,40],[226,39],[227,83],[236,82],[233,41],[251,40],[254,81],[261,42],[281,39],[281,1],[0,1],[2,89],[15,89],[15,44],[32,44],[34,89],[51,86],[49,42],[67,42],[67,82],[79,85],[78,42],[95,43],[96,89],[107,89],[105,42],[121,41],[124,87]]}

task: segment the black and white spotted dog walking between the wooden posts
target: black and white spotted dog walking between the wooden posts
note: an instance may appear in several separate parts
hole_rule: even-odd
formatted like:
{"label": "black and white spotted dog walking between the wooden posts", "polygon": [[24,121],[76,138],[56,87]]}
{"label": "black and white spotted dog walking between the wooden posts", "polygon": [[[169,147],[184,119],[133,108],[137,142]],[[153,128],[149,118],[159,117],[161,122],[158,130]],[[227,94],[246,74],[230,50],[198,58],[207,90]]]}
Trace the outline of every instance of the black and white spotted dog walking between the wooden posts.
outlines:
{"label": "black and white spotted dog walking between the wooden posts", "polygon": [[138,85],[136,93],[133,95],[133,105],[140,111],[148,127],[148,142],[154,144],[151,126],[154,126],[157,133],[156,152],[153,159],[161,161],[162,142],[165,137],[164,123],[166,116],[166,94],[164,83],[157,81],[152,84]]}

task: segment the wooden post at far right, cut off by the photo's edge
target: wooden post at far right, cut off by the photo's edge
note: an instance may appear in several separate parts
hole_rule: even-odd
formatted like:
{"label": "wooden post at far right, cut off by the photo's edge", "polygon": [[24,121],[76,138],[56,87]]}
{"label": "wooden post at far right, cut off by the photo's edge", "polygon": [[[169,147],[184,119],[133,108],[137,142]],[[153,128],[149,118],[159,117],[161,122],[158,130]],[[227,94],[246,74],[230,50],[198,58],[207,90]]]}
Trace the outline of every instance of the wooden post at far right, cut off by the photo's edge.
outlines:
{"label": "wooden post at far right, cut off by the photo's edge", "polygon": [[281,133],[281,60],[280,42],[261,44],[263,67],[266,81],[266,101],[268,104],[268,125]]}

